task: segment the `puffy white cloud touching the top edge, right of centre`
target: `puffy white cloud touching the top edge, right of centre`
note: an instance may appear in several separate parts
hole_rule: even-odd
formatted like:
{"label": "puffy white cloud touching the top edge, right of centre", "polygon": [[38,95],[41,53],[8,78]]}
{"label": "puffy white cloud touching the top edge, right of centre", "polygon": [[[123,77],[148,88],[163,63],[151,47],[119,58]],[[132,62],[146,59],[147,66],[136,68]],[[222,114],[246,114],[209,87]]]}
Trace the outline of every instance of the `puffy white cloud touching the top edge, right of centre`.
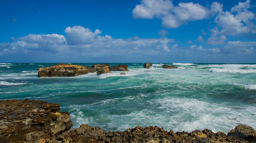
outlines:
{"label": "puffy white cloud touching the top edge, right of centre", "polygon": [[176,7],[170,0],[142,0],[132,11],[134,18],[161,18],[162,26],[176,28],[188,21],[203,20],[209,9],[192,2],[180,2]]}

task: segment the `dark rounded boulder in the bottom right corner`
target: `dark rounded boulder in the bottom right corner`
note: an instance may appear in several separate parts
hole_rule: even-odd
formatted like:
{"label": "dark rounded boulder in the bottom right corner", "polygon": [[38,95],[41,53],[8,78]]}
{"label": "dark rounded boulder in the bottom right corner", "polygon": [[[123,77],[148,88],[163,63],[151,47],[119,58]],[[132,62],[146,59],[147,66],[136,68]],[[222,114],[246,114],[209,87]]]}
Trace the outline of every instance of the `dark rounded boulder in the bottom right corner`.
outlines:
{"label": "dark rounded boulder in the bottom right corner", "polygon": [[249,142],[256,142],[256,130],[250,126],[238,125],[228,132],[228,136],[236,136],[236,138],[243,138]]}

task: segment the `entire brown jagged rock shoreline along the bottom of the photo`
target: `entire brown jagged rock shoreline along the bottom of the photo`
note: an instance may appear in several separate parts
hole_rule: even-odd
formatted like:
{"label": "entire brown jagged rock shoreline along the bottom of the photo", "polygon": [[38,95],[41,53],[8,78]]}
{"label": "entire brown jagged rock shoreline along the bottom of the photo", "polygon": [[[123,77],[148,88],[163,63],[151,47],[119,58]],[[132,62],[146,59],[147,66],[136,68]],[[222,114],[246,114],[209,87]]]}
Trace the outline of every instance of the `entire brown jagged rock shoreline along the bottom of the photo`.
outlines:
{"label": "entire brown jagged rock shoreline along the bottom of the photo", "polygon": [[244,125],[228,135],[209,129],[174,133],[157,126],[106,132],[82,124],[70,130],[69,114],[59,110],[59,104],[46,101],[0,101],[0,142],[256,142],[256,131]]}

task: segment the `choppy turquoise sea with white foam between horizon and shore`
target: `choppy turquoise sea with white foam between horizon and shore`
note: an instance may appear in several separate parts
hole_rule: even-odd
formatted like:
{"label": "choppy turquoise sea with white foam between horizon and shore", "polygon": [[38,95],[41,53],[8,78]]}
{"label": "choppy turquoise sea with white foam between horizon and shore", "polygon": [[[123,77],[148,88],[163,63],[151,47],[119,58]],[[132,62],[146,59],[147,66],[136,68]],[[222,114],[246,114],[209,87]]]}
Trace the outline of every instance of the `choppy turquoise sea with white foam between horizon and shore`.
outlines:
{"label": "choppy turquoise sea with white foam between horizon and shore", "polygon": [[[92,66],[93,63],[79,63]],[[127,63],[112,63],[110,66]],[[53,63],[1,63],[0,100],[58,102],[73,128],[85,123],[107,131],[135,126],[165,130],[256,129],[256,64],[128,63],[129,71],[76,77],[37,77]]]}

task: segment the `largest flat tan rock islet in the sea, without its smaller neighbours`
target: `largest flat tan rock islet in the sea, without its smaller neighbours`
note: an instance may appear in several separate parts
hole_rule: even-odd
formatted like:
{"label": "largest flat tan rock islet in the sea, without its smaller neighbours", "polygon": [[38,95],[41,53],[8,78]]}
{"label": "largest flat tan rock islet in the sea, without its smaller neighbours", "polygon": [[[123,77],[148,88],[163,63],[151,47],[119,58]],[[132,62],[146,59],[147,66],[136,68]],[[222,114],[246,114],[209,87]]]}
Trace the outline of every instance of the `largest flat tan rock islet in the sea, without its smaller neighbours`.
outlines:
{"label": "largest flat tan rock islet in the sea, without its smaller neighbours", "polygon": [[80,74],[88,74],[95,72],[88,66],[81,66],[78,64],[56,64],[51,67],[38,68],[38,77],[52,77],[52,76],[78,76]]}

